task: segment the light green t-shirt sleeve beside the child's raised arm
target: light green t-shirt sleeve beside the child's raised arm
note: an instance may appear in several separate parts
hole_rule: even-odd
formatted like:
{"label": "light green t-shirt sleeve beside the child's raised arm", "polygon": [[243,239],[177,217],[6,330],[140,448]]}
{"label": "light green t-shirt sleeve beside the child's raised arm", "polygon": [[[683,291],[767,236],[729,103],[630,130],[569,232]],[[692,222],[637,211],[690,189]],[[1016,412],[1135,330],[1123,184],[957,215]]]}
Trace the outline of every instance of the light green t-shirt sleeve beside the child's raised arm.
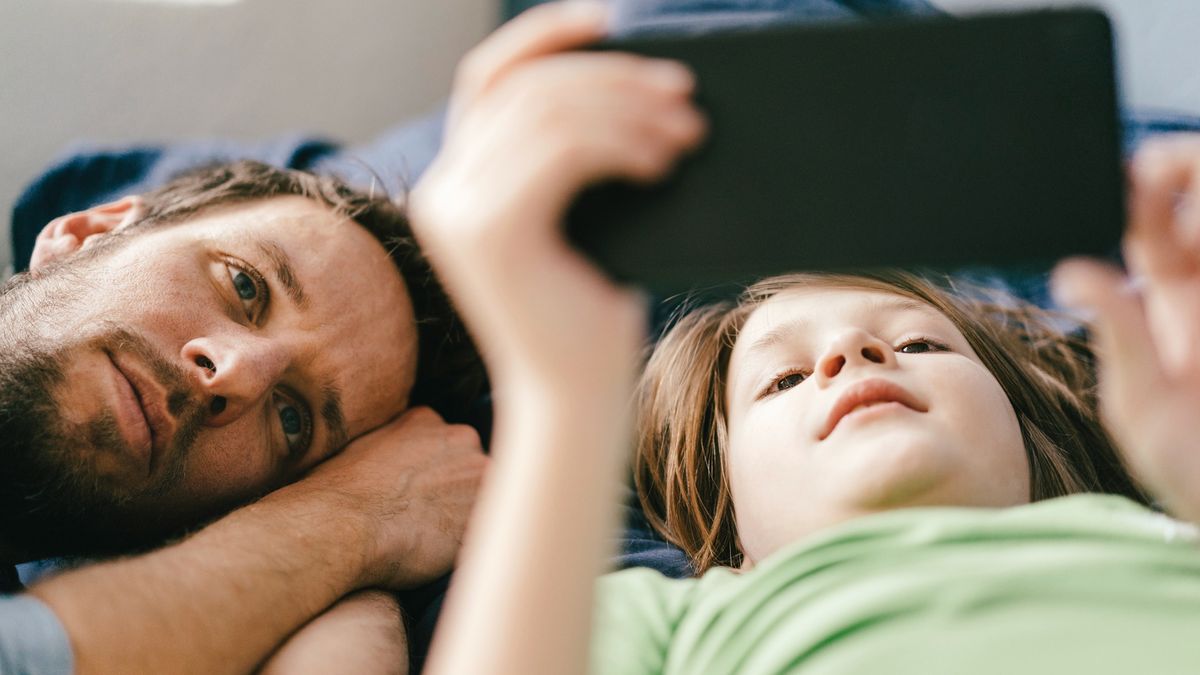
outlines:
{"label": "light green t-shirt sleeve beside the child's raised arm", "polygon": [[626,569],[601,578],[593,614],[592,675],[664,673],[695,584],[694,579],[668,579],[653,569]]}

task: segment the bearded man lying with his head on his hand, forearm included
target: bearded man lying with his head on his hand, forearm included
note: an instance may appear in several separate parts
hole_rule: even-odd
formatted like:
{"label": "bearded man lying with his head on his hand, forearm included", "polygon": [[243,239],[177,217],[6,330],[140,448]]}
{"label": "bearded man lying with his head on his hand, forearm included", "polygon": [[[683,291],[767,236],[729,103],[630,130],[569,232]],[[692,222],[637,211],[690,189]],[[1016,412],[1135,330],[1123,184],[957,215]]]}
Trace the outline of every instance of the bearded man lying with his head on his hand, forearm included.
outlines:
{"label": "bearded man lying with his head on his hand, forearm included", "polygon": [[[481,380],[397,207],[253,162],[50,222],[0,325],[8,563],[156,544]],[[31,592],[79,671],[247,670],[347,592],[443,574],[482,462],[413,411],[176,545]]]}

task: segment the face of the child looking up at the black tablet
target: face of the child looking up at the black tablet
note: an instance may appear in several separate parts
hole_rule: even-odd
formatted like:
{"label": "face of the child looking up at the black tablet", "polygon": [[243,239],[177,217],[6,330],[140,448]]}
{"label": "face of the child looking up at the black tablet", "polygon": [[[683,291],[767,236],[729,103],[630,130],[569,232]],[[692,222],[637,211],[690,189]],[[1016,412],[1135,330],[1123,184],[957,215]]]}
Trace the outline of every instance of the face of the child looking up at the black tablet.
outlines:
{"label": "face of the child looking up at the black tablet", "polygon": [[730,360],[727,467],[748,563],[910,506],[1030,501],[1012,404],[954,324],[880,291],[787,291]]}

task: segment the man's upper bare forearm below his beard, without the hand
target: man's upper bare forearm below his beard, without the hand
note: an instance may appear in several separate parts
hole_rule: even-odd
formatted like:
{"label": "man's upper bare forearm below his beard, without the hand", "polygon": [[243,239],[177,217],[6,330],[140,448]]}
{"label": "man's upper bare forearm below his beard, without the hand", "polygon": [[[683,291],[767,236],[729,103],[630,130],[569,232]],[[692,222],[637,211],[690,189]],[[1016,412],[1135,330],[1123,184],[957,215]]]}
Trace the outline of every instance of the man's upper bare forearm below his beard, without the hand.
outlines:
{"label": "man's upper bare forearm below his beard, without the hand", "polygon": [[36,585],[77,673],[246,673],[366,583],[371,533],[294,485],[160,551]]}

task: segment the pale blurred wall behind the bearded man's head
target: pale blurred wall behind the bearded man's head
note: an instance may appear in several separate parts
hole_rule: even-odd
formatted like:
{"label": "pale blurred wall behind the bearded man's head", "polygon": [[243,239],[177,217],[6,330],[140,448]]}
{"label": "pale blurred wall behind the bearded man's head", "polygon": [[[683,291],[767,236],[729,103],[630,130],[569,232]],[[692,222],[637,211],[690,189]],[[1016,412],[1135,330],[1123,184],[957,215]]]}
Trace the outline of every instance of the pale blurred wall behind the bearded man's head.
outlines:
{"label": "pale blurred wall behind the bearded man's head", "polygon": [[72,141],[365,141],[449,92],[498,0],[0,0],[0,269],[20,187]]}

